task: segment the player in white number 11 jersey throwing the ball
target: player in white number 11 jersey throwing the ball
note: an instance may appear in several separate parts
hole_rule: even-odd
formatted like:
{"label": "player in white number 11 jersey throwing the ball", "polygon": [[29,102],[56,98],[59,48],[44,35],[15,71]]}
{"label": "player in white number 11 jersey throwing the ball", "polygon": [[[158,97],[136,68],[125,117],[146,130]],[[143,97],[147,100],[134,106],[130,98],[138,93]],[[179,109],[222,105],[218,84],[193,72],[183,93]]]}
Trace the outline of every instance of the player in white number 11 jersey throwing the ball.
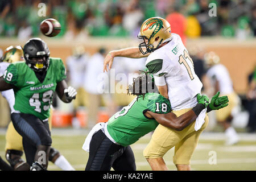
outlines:
{"label": "player in white number 11 jersey throwing the ball", "polygon": [[[154,75],[160,94],[168,98],[172,111],[179,117],[196,105],[196,94],[203,84],[195,74],[193,61],[181,38],[171,33],[167,20],[153,17],[145,20],[138,38],[139,47],[110,51],[105,57],[104,71],[112,67],[115,56],[147,57],[146,67]],[[108,68],[107,68],[108,67]],[[195,130],[195,123],[183,131],[175,131],[159,125],[143,155],[153,170],[168,170],[163,156],[175,146],[174,164],[178,170],[190,170],[190,160],[199,136],[208,125],[207,114],[203,126]]]}

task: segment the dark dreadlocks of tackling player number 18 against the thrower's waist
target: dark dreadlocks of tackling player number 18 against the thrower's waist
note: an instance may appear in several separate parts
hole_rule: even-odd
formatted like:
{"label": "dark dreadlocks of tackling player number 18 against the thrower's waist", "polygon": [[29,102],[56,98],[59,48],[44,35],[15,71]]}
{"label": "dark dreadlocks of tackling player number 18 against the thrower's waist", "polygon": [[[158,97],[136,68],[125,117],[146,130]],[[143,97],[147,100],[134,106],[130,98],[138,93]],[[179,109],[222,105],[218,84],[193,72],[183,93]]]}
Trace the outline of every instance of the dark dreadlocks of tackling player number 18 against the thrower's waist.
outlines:
{"label": "dark dreadlocks of tackling player number 18 against the thrower's waist", "polygon": [[145,97],[146,93],[159,93],[158,88],[155,85],[154,77],[144,72],[137,78],[133,78],[133,84],[129,85],[127,94],[132,94],[138,98]]}

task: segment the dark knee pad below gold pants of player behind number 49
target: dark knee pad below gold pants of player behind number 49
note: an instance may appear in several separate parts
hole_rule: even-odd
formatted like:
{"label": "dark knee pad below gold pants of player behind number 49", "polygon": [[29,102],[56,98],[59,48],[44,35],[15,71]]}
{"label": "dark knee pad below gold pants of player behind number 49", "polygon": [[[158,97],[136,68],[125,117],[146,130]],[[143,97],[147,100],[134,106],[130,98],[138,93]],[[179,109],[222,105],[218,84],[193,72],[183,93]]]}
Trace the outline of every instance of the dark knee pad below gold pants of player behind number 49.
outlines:
{"label": "dark knee pad below gold pants of player behind number 49", "polygon": [[7,150],[6,151],[6,160],[10,163],[11,167],[15,167],[18,163],[25,163],[24,160],[21,158],[23,155],[22,151],[19,150]]}

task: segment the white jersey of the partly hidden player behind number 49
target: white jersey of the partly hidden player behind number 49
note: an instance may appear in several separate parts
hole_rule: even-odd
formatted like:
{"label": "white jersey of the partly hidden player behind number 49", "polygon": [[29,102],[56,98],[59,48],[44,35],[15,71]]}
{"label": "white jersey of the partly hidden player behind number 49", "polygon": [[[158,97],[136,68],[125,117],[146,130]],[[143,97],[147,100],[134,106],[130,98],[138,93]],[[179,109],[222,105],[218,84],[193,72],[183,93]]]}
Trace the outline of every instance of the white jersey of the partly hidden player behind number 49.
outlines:
{"label": "white jersey of the partly hidden player behind number 49", "polygon": [[[2,62],[0,63],[0,76],[5,74],[6,68],[9,66],[10,63]],[[6,90],[1,92],[2,96],[6,98],[7,102],[9,103],[9,107],[11,109],[11,113],[14,113],[14,104],[15,104],[15,96],[13,89]]]}

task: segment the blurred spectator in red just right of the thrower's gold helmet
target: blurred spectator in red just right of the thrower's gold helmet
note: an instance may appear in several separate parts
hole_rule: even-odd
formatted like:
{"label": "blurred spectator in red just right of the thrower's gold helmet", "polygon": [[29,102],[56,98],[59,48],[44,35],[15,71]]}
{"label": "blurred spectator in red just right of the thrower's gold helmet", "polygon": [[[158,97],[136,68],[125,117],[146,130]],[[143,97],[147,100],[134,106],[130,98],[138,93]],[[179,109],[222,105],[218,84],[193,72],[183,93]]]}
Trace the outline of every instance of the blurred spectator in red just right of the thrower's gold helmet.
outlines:
{"label": "blurred spectator in red just right of the thrower's gold helmet", "polygon": [[171,31],[172,33],[178,34],[183,42],[183,44],[186,44],[186,26],[187,22],[185,19],[185,16],[183,16],[181,13],[179,13],[180,9],[177,5],[172,7],[171,13],[166,16],[166,20],[171,25]]}

